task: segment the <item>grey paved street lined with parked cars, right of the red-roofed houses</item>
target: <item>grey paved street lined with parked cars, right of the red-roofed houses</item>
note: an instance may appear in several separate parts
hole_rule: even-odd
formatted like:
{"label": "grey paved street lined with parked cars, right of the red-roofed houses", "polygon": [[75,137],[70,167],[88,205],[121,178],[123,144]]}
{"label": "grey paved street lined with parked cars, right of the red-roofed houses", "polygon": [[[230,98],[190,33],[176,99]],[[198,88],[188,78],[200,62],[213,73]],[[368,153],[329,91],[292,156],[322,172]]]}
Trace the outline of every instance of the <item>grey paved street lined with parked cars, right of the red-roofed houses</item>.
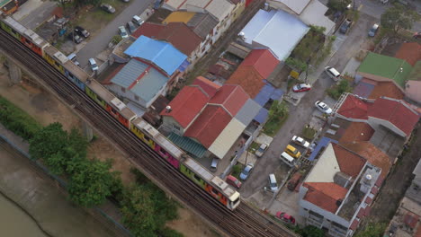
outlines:
{"label": "grey paved street lined with parked cars, right of the red-roofed houses", "polygon": [[[337,40],[344,40],[341,48],[338,49],[334,57],[332,57],[327,65],[335,66],[339,72],[344,70],[346,63],[358,51],[363,44],[363,40],[367,39],[367,32],[370,30],[375,18],[367,14],[361,13],[360,19],[354,24],[353,29],[348,36],[338,35]],[[278,134],[274,136],[272,144],[268,151],[260,158],[255,165],[255,171],[252,172],[249,180],[241,188],[243,198],[248,198],[256,191],[263,189],[267,185],[267,177],[282,163],[279,160],[279,155],[283,147],[288,145],[291,137],[299,134],[301,129],[309,124],[310,115],[313,113],[314,101],[324,98],[325,91],[334,82],[322,74],[325,65],[318,67],[318,81],[313,84],[313,88],[300,101],[298,107],[290,107],[289,118],[285,121]],[[281,182],[281,180],[279,180]]]}

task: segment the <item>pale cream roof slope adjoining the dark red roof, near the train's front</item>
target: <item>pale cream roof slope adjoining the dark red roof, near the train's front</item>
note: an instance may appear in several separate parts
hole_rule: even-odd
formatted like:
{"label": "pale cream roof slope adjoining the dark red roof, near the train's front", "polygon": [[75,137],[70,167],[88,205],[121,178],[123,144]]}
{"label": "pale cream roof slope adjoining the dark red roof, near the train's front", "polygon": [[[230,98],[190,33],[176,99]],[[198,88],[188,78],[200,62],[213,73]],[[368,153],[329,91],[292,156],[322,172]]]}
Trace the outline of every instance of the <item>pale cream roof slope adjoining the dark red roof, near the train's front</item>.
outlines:
{"label": "pale cream roof slope adjoining the dark red roof, near the train's front", "polygon": [[228,153],[229,149],[234,145],[238,136],[243,133],[244,129],[246,129],[246,125],[236,118],[231,119],[227,127],[222,130],[212,145],[210,145],[209,151],[212,154],[215,154],[219,159],[224,158],[225,154]]}

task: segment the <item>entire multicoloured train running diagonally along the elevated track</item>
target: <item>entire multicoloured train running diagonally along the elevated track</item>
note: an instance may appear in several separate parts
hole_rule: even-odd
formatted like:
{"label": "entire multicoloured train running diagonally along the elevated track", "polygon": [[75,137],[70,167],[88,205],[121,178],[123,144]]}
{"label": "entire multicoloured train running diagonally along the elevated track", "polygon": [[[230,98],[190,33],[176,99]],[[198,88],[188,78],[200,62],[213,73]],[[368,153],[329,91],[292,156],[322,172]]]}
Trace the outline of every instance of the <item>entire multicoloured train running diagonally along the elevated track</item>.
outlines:
{"label": "entire multicoloured train running diagonally along the elevated track", "polygon": [[135,136],[161,158],[169,162],[175,169],[192,180],[196,185],[204,189],[212,198],[215,198],[229,210],[234,211],[240,203],[240,194],[228,185],[227,182],[213,175],[199,162],[185,154],[183,150],[171,143],[166,136],[148,124],[130,110],[112,92],[109,92],[94,78],[88,75],[82,68],[76,66],[57,48],[43,40],[31,29],[26,29],[20,22],[15,21],[8,15],[2,15],[0,28],[19,40],[22,45],[46,60],[64,75],[68,80],[75,83],[78,89],[85,92],[92,100],[98,103],[121,125],[126,127]]}

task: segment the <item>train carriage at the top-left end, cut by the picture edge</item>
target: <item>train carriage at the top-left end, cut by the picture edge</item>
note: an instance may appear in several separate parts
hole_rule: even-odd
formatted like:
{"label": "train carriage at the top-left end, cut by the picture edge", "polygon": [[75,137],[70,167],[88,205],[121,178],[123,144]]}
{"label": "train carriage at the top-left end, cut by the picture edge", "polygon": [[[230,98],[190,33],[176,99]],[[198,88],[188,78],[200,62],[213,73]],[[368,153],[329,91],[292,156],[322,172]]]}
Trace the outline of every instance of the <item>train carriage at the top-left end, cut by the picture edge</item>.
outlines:
{"label": "train carriage at the top-left end, cut by the picture edge", "polygon": [[2,29],[11,34],[17,40],[20,40],[26,47],[32,51],[44,56],[44,49],[49,47],[49,42],[40,38],[34,31],[26,29],[21,23],[16,22],[12,17],[5,17],[0,23]]}

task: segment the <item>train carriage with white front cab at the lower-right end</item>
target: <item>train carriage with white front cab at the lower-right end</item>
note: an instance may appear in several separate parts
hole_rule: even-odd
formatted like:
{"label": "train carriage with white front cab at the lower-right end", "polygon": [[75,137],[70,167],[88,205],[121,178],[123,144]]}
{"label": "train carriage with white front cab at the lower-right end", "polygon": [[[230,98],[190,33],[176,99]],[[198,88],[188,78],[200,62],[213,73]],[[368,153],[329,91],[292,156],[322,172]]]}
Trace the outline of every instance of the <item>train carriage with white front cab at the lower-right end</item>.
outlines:
{"label": "train carriage with white front cab at the lower-right end", "polygon": [[240,203],[239,193],[229,187],[228,183],[214,176],[202,165],[188,157],[180,164],[180,171],[193,180],[194,183],[205,189],[210,196],[219,200],[228,209],[234,210]]}

